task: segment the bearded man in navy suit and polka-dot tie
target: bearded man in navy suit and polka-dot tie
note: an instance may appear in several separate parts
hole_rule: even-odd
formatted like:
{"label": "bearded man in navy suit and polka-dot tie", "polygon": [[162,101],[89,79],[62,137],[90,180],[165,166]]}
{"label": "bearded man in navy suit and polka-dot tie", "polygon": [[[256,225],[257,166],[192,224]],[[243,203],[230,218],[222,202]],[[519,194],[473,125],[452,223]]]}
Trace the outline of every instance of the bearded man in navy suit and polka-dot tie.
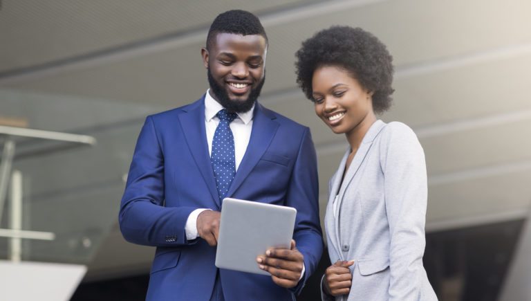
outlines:
{"label": "bearded man in navy suit and polka-dot tie", "polygon": [[[147,300],[293,300],[315,271],[322,254],[315,147],[307,127],[257,102],[267,48],[256,16],[218,15],[201,49],[210,89],[146,118],[120,229],[127,241],[156,246]],[[270,276],[214,265],[223,197],[297,209],[291,248],[257,257]]]}

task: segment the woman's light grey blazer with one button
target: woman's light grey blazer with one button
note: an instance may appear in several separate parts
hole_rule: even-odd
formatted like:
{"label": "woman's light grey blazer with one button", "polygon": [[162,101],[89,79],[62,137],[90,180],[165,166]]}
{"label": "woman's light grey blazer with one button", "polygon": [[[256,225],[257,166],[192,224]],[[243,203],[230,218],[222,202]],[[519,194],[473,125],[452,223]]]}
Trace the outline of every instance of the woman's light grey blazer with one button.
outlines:
{"label": "woman's light grey blazer with one button", "polygon": [[324,219],[330,261],[355,260],[351,291],[336,300],[437,300],[422,265],[427,176],[415,133],[377,120],[342,183],[350,152],[328,184]]}

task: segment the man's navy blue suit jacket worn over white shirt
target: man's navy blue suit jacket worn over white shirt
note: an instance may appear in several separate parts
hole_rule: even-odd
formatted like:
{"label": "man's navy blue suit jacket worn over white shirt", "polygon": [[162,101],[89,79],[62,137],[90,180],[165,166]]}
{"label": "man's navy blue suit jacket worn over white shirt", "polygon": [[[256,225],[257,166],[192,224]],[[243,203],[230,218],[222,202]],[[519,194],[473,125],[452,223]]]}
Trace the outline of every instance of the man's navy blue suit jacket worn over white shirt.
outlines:
{"label": "man's navy blue suit jacket worn over white shirt", "polygon": [[[225,300],[292,300],[322,254],[317,158],[307,127],[257,102],[252,133],[227,197],[297,209],[293,239],[306,273],[294,289],[271,277],[220,269]],[[197,208],[220,211],[205,132],[205,102],[148,116],[133,155],[120,206],[127,241],[156,246],[147,300],[209,300],[216,248],[187,241],[185,223]]]}

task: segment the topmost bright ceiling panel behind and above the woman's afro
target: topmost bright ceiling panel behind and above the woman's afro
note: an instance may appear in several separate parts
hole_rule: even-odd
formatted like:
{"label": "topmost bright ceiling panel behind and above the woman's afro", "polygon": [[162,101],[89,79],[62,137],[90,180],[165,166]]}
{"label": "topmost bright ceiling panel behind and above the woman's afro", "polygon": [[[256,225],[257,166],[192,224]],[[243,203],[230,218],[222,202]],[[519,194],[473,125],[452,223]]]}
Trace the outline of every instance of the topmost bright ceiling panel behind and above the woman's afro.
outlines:
{"label": "topmost bright ceiling panel behind and above the woman's afro", "polygon": [[[360,26],[379,37],[394,64],[409,66],[431,60],[481,53],[531,43],[531,2],[381,1],[338,9],[268,26],[268,78],[265,91],[295,83],[295,52],[301,42],[332,25]],[[474,16],[471,18],[471,16]],[[496,21],[493,21],[496,20]]]}

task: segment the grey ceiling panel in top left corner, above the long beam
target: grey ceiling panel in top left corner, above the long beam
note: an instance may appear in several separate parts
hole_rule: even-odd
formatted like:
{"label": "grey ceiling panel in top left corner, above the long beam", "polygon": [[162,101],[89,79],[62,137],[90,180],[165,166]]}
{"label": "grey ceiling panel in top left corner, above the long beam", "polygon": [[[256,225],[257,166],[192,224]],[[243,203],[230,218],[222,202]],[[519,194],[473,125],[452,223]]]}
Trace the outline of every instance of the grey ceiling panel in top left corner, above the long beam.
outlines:
{"label": "grey ceiling panel in top left corner, above the long beam", "polygon": [[239,8],[257,14],[302,0],[3,0],[0,71],[86,55],[124,44],[179,36],[209,27],[218,13]]}

